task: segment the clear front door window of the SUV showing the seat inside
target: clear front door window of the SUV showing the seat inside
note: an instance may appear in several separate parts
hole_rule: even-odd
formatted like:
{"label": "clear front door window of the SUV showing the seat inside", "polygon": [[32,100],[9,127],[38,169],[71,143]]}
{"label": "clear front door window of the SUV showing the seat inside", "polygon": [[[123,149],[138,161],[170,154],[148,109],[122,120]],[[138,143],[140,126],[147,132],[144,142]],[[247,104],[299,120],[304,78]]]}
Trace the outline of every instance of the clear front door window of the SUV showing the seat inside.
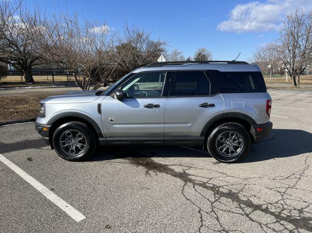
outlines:
{"label": "clear front door window of the SUV showing the seat inside", "polygon": [[160,97],[166,72],[148,72],[134,76],[122,85],[125,97]]}

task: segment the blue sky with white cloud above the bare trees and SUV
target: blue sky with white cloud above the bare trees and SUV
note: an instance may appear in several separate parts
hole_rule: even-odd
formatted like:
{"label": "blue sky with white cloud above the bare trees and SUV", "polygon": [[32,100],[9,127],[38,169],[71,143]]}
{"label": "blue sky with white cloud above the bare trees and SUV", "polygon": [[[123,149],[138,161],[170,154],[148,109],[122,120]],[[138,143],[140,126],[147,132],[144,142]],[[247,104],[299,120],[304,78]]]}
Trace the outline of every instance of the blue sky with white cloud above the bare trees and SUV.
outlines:
{"label": "blue sky with white cloud above the bare trees and SUV", "polygon": [[312,10],[312,0],[25,0],[48,14],[59,9],[105,21],[117,32],[127,20],[170,43],[185,57],[198,47],[215,60],[249,61],[254,50],[278,36],[278,25],[296,7]]}

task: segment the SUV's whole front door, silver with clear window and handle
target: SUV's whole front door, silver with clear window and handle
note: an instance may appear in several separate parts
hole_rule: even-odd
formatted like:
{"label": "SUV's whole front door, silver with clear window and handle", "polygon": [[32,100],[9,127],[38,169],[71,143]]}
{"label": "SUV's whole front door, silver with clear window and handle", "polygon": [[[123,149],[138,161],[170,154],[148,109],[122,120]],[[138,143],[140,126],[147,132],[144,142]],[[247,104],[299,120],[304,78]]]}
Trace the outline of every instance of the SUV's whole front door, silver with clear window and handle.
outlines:
{"label": "SUV's whole front door, silver with clear window and handle", "polygon": [[163,143],[166,72],[138,73],[118,90],[124,98],[107,96],[102,101],[102,124],[106,142]]}

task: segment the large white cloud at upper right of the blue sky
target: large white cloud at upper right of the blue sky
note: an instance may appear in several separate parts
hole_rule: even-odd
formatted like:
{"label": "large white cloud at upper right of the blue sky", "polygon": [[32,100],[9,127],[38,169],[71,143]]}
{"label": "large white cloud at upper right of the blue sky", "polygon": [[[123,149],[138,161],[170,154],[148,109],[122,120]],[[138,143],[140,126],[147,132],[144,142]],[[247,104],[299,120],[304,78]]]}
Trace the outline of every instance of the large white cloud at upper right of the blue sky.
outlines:
{"label": "large white cloud at upper right of the blue sky", "polygon": [[312,10],[311,0],[267,0],[238,4],[230,18],[218,25],[218,30],[227,32],[265,32],[278,29],[285,14],[296,8]]}

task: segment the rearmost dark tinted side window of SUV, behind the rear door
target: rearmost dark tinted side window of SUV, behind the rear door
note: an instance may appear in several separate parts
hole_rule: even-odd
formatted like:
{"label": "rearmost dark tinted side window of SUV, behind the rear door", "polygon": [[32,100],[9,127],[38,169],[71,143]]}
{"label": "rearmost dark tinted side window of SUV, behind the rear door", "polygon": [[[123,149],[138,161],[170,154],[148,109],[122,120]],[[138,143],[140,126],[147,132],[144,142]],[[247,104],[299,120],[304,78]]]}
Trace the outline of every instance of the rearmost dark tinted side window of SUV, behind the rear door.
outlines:
{"label": "rearmost dark tinted side window of SUV, behind the rear door", "polygon": [[267,92],[261,72],[209,72],[221,93]]}

